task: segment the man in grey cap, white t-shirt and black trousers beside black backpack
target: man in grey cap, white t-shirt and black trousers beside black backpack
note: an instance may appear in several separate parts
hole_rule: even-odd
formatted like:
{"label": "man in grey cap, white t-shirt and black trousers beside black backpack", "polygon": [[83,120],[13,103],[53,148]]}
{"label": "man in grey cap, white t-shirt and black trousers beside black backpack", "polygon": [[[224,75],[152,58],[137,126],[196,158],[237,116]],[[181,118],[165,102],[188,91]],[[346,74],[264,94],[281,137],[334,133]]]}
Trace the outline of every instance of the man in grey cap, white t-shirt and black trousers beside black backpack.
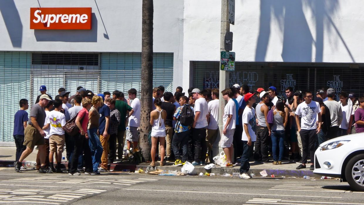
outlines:
{"label": "man in grey cap, white t-shirt and black trousers beside black backpack", "polygon": [[[196,99],[194,111],[195,119],[192,124],[193,145],[195,147],[195,161],[192,162],[193,166],[203,165],[205,163],[205,155],[207,152],[206,145],[206,127],[207,116],[209,115],[209,108],[206,99],[203,98],[201,91],[194,88],[190,95]],[[201,162],[201,163],[200,163]]]}

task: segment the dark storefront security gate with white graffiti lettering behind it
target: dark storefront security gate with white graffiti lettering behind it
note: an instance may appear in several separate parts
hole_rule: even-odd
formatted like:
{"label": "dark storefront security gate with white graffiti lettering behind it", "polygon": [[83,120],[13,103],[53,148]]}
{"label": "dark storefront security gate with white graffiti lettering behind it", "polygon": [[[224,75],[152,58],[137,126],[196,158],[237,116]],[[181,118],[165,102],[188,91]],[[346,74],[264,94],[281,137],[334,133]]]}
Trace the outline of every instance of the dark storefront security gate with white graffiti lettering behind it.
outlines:
{"label": "dark storefront security gate with white graffiti lettering behind it", "polygon": [[[336,100],[341,91],[364,94],[363,63],[256,63],[236,62],[230,72],[230,86],[247,84],[250,90],[275,86],[279,95],[285,95],[288,86],[294,90],[316,92],[324,86],[336,90]],[[193,84],[197,88],[219,87],[219,62],[194,62]],[[315,95],[316,96],[316,95]]]}

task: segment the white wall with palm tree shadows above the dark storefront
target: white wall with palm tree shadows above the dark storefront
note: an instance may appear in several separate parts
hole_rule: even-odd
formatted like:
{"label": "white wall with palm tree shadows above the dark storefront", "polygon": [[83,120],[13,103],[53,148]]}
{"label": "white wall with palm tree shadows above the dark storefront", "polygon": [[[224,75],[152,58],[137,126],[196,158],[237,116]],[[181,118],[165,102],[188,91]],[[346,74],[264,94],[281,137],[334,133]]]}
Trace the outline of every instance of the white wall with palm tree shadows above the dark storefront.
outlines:
{"label": "white wall with palm tree shadows above the dark storefront", "polygon": [[[246,62],[363,63],[364,1],[236,0],[233,51]],[[190,61],[218,61],[220,0],[185,0],[183,87]]]}

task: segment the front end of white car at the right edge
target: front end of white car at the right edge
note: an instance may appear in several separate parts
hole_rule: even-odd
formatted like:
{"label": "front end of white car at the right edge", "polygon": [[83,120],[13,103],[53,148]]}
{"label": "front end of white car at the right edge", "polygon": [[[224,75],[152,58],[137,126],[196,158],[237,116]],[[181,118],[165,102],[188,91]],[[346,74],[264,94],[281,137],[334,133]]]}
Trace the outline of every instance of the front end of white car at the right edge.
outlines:
{"label": "front end of white car at the right edge", "polygon": [[358,191],[364,191],[364,133],[330,139],[315,152],[313,173],[338,177]]}

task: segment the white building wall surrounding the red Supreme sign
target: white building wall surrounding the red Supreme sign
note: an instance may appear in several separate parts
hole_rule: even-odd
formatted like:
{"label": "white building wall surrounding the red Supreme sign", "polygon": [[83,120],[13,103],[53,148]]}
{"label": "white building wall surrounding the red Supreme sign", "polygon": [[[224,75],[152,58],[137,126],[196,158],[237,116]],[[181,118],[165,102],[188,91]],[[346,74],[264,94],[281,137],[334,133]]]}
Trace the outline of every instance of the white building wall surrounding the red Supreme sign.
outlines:
{"label": "white building wall surrounding the red Supreme sign", "polygon": [[[29,29],[31,7],[92,7],[92,29]],[[10,0],[0,3],[0,12],[1,51],[142,51],[141,0]],[[177,76],[182,74],[183,0],[154,0],[153,28],[153,51],[174,55],[177,87],[182,84]]]}

